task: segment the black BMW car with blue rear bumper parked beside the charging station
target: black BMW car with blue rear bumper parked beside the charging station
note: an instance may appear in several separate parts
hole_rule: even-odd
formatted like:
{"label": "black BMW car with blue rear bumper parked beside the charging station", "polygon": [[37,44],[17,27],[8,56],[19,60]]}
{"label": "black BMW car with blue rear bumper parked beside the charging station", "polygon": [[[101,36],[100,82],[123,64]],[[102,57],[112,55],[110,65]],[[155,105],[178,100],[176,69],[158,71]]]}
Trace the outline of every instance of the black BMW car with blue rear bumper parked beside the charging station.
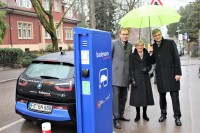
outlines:
{"label": "black BMW car with blue rear bumper parked beside the charging station", "polygon": [[76,120],[74,53],[36,58],[18,77],[15,110],[28,120]]}

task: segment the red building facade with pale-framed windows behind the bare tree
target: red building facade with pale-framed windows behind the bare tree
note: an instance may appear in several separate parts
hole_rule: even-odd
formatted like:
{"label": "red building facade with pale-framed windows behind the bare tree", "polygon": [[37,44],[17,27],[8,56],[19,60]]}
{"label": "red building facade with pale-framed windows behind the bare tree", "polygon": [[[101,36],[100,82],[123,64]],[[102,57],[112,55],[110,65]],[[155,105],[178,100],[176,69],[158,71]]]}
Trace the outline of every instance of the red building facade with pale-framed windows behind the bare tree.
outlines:
{"label": "red building facade with pale-framed windows behind the bare tree", "polygon": [[[21,48],[24,51],[45,50],[51,44],[48,32],[40,23],[30,0],[0,0],[6,6],[1,10],[6,11],[6,22],[9,25],[0,48]],[[40,0],[44,9],[49,10],[50,1],[53,4],[52,14],[54,24],[58,24],[63,13],[70,6],[67,0]],[[73,27],[79,20],[73,10],[68,10],[61,25],[56,29],[58,47],[67,50],[73,47]]]}

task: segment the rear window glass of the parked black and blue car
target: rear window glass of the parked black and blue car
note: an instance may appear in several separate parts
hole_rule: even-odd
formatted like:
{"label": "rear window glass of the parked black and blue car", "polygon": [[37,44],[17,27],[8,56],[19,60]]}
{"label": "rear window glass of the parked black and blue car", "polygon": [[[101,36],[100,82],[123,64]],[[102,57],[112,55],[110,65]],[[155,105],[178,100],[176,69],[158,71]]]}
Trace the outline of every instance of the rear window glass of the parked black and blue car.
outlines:
{"label": "rear window glass of the parked black and blue car", "polygon": [[66,79],[73,77],[73,66],[65,64],[33,63],[25,71],[32,78]]}

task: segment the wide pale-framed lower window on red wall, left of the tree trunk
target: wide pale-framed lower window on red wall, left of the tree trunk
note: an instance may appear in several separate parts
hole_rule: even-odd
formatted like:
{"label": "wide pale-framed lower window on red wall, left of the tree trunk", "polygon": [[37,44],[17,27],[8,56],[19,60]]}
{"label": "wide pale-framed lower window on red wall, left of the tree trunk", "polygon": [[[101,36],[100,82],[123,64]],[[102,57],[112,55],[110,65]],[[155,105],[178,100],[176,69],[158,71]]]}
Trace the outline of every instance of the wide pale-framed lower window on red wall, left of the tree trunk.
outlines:
{"label": "wide pale-framed lower window on red wall, left of the tree trunk", "polygon": [[27,22],[18,22],[18,38],[32,39],[33,38],[33,24]]}

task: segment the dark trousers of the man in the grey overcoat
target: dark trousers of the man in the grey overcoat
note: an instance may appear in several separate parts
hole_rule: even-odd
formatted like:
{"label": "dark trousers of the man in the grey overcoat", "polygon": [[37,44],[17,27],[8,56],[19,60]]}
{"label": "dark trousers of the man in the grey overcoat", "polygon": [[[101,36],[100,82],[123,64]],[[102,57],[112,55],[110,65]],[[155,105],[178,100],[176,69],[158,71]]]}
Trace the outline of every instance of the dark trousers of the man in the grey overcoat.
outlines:
{"label": "dark trousers of the man in the grey overcoat", "polygon": [[127,100],[127,87],[112,86],[113,88],[113,116],[118,119],[124,115],[124,109]]}

